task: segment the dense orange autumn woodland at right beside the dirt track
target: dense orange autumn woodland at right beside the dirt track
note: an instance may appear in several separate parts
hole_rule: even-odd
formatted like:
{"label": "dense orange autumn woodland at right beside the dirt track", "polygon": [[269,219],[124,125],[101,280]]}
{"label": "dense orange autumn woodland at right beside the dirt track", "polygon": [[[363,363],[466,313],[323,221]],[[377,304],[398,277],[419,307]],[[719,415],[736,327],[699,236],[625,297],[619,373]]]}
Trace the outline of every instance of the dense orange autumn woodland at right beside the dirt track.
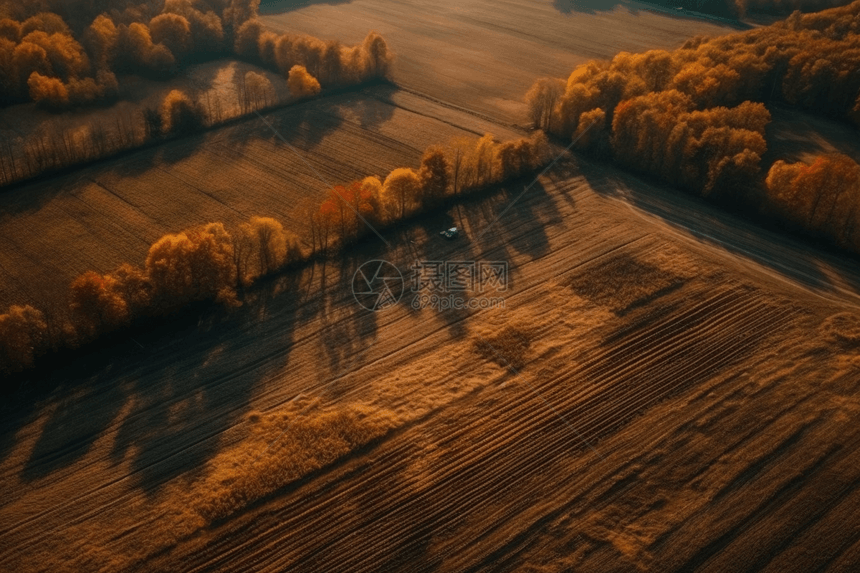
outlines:
{"label": "dense orange autumn woodland at right beside the dirt track", "polygon": [[761,166],[764,102],[860,125],[860,1],[671,52],[591,61],[567,81],[538,80],[526,101],[535,125],[581,150],[860,252],[856,163]]}

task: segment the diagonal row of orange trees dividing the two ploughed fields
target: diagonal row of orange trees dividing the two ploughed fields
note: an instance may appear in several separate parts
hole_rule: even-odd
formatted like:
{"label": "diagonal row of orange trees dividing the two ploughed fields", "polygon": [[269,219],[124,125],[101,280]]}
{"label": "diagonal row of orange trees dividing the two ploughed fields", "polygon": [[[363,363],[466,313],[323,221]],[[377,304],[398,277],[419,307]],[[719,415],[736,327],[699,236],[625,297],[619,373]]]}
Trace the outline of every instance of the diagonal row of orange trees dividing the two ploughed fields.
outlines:
{"label": "diagonal row of orange trees dividing the two ploughed fields", "polygon": [[42,354],[76,348],[145,319],[167,316],[197,302],[240,304],[260,277],[311,257],[327,257],[446,199],[458,199],[533,172],[549,159],[543,132],[497,142],[491,135],[431,146],[418,169],[395,169],[331,189],[308,213],[307,240],[268,217],[227,229],[209,223],[165,235],[144,266],[123,264],[112,273],[87,272],[72,281],[68,318],[32,306],[0,314],[0,374],[34,365]]}

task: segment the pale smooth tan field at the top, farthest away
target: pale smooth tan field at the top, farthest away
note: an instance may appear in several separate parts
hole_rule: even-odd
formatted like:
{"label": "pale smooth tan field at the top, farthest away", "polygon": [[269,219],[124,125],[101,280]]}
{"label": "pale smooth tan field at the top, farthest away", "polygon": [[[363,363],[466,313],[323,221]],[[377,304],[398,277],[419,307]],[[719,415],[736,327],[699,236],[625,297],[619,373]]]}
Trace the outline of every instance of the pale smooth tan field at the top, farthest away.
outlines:
{"label": "pale smooth tan field at the top, farthest away", "polygon": [[276,32],[345,43],[376,30],[398,54],[399,85],[517,124],[528,121],[523,95],[537,77],[567,77],[592,58],[677,48],[742,26],[629,1],[272,0],[260,12]]}

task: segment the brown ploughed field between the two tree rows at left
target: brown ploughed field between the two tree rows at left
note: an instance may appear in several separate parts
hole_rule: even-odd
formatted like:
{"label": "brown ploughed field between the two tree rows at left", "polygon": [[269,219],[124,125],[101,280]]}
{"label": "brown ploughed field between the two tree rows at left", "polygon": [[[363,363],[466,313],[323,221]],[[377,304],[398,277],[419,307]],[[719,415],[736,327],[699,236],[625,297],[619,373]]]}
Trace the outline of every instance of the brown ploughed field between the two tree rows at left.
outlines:
{"label": "brown ploughed field between the two tree rows at left", "polygon": [[[419,163],[424,148],[498,124],[389,86],[266,114],[0,194],[0,308],[62,305],[77,275],[142,264],[166,233],[253,215],[303,233],[328,186]],[[33,285],[38,285],[34,288]]]}

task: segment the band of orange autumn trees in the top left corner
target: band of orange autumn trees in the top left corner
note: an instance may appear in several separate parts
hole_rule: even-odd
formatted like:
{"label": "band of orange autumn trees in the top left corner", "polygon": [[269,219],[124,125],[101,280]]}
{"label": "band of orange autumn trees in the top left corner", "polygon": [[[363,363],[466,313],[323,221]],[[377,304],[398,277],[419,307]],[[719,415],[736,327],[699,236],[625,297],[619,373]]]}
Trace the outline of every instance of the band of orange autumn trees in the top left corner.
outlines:
{"label": "band of orange autumn trees in the top left corner", "polygon": [[[287,74],[303,66],[324,87],[384,77],[391,53],[376,33],[357,46],[276,35],[260,0],[0,0],[0,105],[53,109],[117,96],[117,74],[176,74],[235,53]],[[69,22],[69,23],[67,23]]]}

